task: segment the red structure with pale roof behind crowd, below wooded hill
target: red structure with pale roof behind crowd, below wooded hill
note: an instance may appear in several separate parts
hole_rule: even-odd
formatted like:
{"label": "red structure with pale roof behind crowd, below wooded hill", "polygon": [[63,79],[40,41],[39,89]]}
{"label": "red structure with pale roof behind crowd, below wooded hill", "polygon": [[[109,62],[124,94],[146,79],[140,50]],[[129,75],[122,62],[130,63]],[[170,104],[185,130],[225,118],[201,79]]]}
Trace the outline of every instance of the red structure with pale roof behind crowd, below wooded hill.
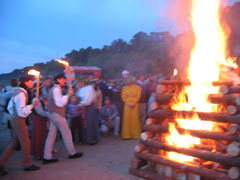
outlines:
{"label": "red structure with pale roof behind crowd, below wooded hill", "polygon": [[99,79],[101,77],[102,69],[97,66],[70,66],[71,78],[76,80],[80,77],[93,76]]}

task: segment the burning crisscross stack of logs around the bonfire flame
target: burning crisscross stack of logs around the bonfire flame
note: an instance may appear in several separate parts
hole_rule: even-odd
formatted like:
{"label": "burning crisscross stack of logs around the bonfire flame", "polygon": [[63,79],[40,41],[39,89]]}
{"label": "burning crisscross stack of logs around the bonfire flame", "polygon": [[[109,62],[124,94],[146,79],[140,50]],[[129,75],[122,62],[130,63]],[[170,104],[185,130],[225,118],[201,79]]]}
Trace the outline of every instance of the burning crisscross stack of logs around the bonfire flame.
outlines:
{"label": "burning crisscross stack of logs around the bonfire flame", "polygon": [[[186,86],[189,82],[162,81],[162,85]],[[161,108],[168,105],[174,92],[157,93],[155,100],[160,107],[148,114],[139,145],[135,147],[134,158],[129,172],[132,175],[151,180],[232,180],[240,179],[240,88],[231,82],[213,82],[222,86],[220,94],[209,95],[208,100],[220,104],[221,113],[175,111]],[[169,131],[168,122],[181,114],[191,117],[194,113],[204,121],[219,125],[221,131],[186,130],[177,127],[178,132],[188,133],[201,140],[210,140],[212,144],[196,145],[192,148],[180,148],[166,144],[161,136]],[[207,141],[206,141],[207,142]],[[214,145],[213,145],[214,144]],[[177,152],[196,157],[194,162],[176,162],[161,152]],[[164,154],[164,153],[163,153]]]}

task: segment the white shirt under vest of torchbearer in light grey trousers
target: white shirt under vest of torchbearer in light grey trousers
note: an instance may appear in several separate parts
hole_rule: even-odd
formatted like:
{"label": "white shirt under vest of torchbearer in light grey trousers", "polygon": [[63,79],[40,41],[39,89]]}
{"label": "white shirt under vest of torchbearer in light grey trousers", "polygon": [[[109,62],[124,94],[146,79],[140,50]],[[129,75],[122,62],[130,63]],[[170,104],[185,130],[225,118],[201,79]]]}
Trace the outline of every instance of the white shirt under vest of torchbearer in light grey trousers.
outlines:
{"label": "white shirt under vest of torchbearer in light grey trousers", "polygon": [[58,107],[64,107],[68,103],[68,95],[62,95],[62,88],[55,84],[53,87],[54,103]]}

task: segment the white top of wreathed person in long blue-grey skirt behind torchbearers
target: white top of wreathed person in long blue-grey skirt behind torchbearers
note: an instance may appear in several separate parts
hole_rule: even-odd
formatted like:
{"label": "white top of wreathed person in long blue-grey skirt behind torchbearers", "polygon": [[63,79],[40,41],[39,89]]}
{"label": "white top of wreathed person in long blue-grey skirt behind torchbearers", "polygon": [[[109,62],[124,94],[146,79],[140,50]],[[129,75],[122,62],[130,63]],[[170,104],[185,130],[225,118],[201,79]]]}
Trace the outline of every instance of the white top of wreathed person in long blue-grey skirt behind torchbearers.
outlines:
{"label": "white top of wreathed person in long blue-grey skirt behind torchbearers", "polygon": [[88,85],[78,89],[76,95],[80,98],[80,105],[88,106],[94,101],[96,92],[92,85]]}

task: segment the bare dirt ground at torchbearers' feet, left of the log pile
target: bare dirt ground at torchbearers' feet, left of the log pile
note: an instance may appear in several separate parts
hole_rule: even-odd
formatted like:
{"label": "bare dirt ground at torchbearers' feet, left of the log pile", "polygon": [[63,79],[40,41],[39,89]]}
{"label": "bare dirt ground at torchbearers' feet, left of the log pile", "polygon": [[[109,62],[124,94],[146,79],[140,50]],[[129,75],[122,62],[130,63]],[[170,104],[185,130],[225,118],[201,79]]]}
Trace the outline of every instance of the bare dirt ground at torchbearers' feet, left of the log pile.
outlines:
{"label": "bare dirt ground at torchbearers' feet, left of the log pile", "polygon": [[[9,130],[0,130],[0,154],[10,140]],[[54,158],[59,162],[43,165],[41,161],[33,160],[41,167],[38,171],[25,172],[22,166],[22,153],[16,151],[6,164],[7,176],[1,180],[136,180],[128,173],[133,158],[133,149],[138,140],[122,140],[115,137],[102,137],[96,145],[75,145],[84,156],[80,159],[67,159],[67,153],[61,140],[56,142],[58,152]]]}

